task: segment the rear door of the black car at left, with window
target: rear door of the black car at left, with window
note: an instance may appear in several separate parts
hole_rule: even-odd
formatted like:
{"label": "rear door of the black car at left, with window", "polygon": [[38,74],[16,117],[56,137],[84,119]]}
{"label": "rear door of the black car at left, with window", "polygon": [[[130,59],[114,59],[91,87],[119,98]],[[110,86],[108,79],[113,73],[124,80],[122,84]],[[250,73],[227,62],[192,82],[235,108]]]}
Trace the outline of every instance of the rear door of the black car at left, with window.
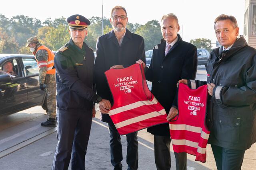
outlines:
{"label": "rear door of the black car at left, with window", "polygon": [[46,91],[40,90],[38,64],[34,57],[23,57],[23,71],[28,82],[28,106],[42,105]]}

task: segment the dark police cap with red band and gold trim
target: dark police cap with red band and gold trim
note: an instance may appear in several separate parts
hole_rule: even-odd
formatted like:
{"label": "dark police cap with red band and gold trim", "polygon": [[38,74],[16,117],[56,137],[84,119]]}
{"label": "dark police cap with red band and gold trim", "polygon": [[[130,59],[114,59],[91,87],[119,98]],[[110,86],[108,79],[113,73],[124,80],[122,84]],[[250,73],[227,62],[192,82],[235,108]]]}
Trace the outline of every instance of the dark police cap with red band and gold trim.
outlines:
{"label": "dark police cap with red band and gold trim", "polygon": [[81,15],[72,15],[67,18],[67,23],[70,28],[73,29],[85,29],[91,22]]}

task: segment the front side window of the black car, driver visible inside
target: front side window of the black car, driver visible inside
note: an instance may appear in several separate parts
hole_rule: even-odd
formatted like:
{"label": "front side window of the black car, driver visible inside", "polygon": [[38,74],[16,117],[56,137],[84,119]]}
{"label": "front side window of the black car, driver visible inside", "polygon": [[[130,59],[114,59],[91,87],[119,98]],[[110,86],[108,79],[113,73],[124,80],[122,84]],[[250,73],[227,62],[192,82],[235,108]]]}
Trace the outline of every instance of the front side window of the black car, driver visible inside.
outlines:
{"label": "front side window of the black car, driver visible inside", "polygon": [[12,59],[5,61],[1,66],[0,70],[2,72],[6,72],[7,74],[11,74],[12,76],[19,77],[21,76],[20,67],[17,59]]}

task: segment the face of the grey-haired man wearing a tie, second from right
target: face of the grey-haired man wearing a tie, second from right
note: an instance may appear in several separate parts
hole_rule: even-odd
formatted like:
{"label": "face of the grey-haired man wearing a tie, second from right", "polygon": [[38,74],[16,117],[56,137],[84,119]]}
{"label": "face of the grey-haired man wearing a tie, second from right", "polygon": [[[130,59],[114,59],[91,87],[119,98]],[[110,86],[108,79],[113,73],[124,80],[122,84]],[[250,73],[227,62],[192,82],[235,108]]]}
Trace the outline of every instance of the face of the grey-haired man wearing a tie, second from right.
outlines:
{"label": "face of the grey-haired man wearing a tie, second from right", "polygon": [[161,21],[161,32],[167,43],[170,44],[177,38],[178,31],[180,31],[180,25],[174,18],[168,17]]}

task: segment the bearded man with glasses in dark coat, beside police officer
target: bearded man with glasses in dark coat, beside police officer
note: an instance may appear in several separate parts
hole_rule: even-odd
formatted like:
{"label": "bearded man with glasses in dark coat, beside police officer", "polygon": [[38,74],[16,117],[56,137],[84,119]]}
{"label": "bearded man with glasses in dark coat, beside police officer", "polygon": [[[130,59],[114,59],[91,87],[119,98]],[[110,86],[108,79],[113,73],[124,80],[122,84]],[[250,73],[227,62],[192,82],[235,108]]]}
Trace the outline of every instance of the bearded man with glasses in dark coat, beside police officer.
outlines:
{"label": "bearded man with glasses in dark coat, beside police officer", "polygon": [[[96,83],[97,94],[113,102],[110,89],[104,72],[111,68],[124,68],[135,64],[141,59],[145,62],[144,39],[131,33],[126,29],[128,22],[127,12],[122,6],[115,6],[111,11],[110,23],[112,31],[99,37],[96,45],[96,61],[94,81]],[[100,106],[101,113],[107,110]],[[108,123],[110,133],[110,154],[111,164],[115,170],[121,170],[122,145],[120,135],[108,114],[102,114],[101,119]],[[128,170],[138,168],[138,140],[137,132],[126,135],[127,156],[126,162]]]}

